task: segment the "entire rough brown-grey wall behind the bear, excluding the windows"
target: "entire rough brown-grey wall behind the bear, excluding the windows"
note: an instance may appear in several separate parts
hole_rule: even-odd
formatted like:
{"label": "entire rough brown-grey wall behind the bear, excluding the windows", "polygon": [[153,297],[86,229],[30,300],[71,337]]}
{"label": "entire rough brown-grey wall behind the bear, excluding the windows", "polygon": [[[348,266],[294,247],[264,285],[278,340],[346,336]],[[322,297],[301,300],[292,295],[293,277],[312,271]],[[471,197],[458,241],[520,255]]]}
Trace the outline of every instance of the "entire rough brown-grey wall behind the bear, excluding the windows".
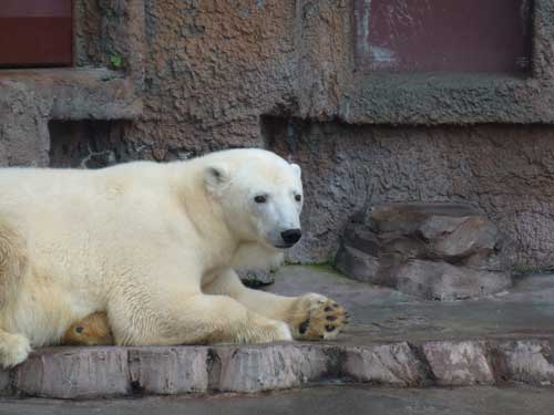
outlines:
{"label": "entire rough brown-grey wall behind the bear, excluding the windows", "polygon": [[[485,209],[519,243],[517,263],[554,267],[554,4],[534,3],[522,79],[362,73],[350,0],[78,0],[76,64],[95,81],[35,105],[35,83],[0,71],[0,92],[22,96],[16,107],[0,93],[0,162],[98,166],[91,151],[111,164],[266,146],[305,172],[307,236],[291,259],[331,258],[368,204],[440,199]],[[111,56],[123,66],[110,69]]]}

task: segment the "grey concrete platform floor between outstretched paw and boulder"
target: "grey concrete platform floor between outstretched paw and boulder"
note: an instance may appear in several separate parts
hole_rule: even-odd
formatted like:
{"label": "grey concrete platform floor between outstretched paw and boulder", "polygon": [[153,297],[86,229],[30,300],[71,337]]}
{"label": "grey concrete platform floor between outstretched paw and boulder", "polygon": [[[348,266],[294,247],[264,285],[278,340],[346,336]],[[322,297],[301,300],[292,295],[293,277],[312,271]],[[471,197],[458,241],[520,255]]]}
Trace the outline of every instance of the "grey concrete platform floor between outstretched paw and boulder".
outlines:
{"label": "grey concrete platform floor between outstretched paw and boulder", "polygon": [[510,292],[453,302],[416,299],[321,267],[284,267],[266,289],[334,298],[352,315],[352,325],[338,339],[349,344],[554,336],[552,273],[516,278]]}

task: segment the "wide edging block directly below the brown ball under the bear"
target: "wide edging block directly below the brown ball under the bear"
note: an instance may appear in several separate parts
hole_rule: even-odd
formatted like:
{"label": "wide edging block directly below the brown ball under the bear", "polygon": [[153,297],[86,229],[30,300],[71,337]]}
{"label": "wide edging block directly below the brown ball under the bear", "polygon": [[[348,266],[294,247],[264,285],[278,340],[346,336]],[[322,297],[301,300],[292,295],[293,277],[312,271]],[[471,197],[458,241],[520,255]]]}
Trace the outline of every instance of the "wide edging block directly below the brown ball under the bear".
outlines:
{"label": "wide edging block directly below the brown ball under the bear", "polygon": [[43,349],[14,371],[16,391],[31,396],[80,398],[131,392],[125,347]]}

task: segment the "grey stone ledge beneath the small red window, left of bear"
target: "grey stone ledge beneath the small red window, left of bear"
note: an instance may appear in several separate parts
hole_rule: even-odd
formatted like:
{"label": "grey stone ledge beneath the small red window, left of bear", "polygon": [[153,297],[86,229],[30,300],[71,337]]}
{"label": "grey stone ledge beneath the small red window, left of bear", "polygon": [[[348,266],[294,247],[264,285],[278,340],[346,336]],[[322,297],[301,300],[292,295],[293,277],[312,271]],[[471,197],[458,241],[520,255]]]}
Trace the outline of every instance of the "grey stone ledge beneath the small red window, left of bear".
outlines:
{"label": "grey stone ledge beneath the small red window, left of bear", "polygon": [[52,120],[137,118],[138,87],[107,69],[0,71],[0,165],[49,166]]}

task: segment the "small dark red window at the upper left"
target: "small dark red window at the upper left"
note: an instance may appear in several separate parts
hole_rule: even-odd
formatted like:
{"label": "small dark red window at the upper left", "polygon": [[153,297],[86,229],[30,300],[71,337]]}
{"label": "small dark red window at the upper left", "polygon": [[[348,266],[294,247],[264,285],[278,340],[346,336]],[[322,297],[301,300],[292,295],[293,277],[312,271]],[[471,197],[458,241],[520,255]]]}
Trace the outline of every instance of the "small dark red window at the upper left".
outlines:
{"label": "small dark red window at the upper left", "polygon": [[0,66],[69,66],[72,0],[0,0]]}

